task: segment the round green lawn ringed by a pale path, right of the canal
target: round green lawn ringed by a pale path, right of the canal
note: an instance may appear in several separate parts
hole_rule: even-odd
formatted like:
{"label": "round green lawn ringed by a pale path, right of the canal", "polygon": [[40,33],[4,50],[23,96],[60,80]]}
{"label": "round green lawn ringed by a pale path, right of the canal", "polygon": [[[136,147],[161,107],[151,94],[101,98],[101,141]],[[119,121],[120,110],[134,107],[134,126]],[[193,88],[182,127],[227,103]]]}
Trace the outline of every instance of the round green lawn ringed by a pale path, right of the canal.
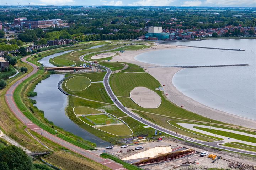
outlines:
{"label": "round green lawn ringed by a pale path, right of the canal", "polygon": [[84,75],[69,78],[65,82],[65,86],[71,91],[82,91],[89,87],[91,80]]}

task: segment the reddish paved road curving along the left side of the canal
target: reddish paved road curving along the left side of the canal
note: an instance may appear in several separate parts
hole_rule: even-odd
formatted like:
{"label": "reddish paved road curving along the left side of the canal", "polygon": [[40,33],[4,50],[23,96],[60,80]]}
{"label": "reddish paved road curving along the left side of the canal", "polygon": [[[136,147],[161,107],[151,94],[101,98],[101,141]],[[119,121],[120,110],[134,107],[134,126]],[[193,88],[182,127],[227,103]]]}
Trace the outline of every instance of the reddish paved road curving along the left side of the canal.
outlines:
{"label": "reddish paved road curving along the left side of the canal", "polygon": [[[26,59],[30,57],[23,57],[22,61],[23,62],[27,62]],[[50,141],[53,141],[54,143],[58,143],[59,145],[69,149],[70,151],[76,152],[80,155],[83,155],[84,157],[87,157],[91,160],[94,160],[97,163],[100,163],[104,166],[107,166],[110,169],[113,170],[126,170],[126,168],[123,168],[123,166],[111,162],[107,159],[104,159],[94,153],[91,153],[89,151],[86,151],[85,149],[79,148],[69,142],[66,142],[65,140],[54,136],[50,133],[48,133],[47,131],[41,129],[39,126],[35,125],[33,122],[31,122],[23,113],[22,111],[20,111],[20,109],[18,109],[16,103],[14,102],[14,98],[13,96],[16,95],[14,94],[14,91],[16,89],[16,87],[18,85],[20,85],[21,83],[23,83],[24,80],[26,80],[27,78],[29,78],[30,76],[32,76],[33,74],[35,74],[38,71],[38,68],[36,65],[32,64],[32,63],[28,63],[33,67],[33,71],[31,73],[29,73],[27,76],[21,78],[20,80],[18,80],[16,83],[14,83],[13,85],[11,85],[9,87],[9,89],[7,90],[6,94],[5,94],[5,100],[7,102],[7,105],[9,106],[9,108],[11,109],[12,113],[14,113],[14,115],[23,123],[27,126],[27,128],[37,132],[38,134],[42,135],[43,137],[49,139]]]}

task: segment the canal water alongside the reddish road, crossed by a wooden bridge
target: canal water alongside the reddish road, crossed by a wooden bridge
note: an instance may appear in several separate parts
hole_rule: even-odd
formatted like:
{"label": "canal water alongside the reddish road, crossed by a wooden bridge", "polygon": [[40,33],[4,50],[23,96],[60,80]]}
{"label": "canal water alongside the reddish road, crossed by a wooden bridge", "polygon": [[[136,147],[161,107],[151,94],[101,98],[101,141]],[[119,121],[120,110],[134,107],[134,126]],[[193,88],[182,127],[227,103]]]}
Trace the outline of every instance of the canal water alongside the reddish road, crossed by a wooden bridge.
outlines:
{"label": "canal water alongside the reddish road, crossed by a wooden bridge", "polygon": [[[74,51],[74,50],[70,50]],[[65,51],[68,53],[70,51]],[[44,57],[41,61],[44,66],[50,67],[49,59],[62,55],[63,53],[57,53],[53,55]],[[47,58],[47,59],[45,59]],[[41,83],[38,83],[34,89],[37,92],[37,96],[31,97],[36,100],[35,106],[44,111],[44,117],[49,121],[52,121],[54,125],[63,128],[65,131],[71,132],[74,135],[80,136],[85,140],[96,143],[97,147],[105,147],[110,145],[109,142],[102,140],[101,138],[87,132],[85,129],[80,128],[75,124],[69,117],[65,114],[65,108],[68,105],[68,96],[63,94],[58,90],[58,83],[64,78],[63,74],[52,74]]]}

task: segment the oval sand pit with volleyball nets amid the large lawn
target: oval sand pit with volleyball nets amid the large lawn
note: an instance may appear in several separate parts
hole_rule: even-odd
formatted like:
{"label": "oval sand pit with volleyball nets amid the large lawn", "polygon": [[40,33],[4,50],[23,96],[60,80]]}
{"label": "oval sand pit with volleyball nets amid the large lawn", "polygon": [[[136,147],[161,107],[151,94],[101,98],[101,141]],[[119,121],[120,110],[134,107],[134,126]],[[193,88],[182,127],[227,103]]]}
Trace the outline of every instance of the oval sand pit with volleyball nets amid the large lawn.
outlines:
{"label": "oval sand pit with volleyball nets amid the large lawn", "polygon": [[141,107],[144,108],[158,108],[161,104],[161,97],[154,91],[146,87],[135,87],[130,92],[131,99]]}

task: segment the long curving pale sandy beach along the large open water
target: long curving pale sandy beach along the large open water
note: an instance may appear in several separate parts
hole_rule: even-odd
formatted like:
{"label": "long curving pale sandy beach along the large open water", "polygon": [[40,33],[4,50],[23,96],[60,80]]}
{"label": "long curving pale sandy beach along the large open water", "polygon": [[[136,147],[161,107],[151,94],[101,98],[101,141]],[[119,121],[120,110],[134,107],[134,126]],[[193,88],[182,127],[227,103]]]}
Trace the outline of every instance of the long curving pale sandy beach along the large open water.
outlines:
{"label": "long curving pale sandy beach along the large open water", "polygon": [[204,104],[201,104],[193,100],[188,96],[185,96],[182,92],[178,91],[177,88],[172,84],[172,77],[174,76],[175,73],[177,73],[182,68],[173,68],[173,67],[149,68],[149,66],[157,66],[157,65],[139,62],[134,59],[135,56],[144,52],[150,52],[150,51],[162,50],[162,49],[171,49],[171,48],[182,48],[182,46],[165,44],[165,45],[153,46],[148,49],[142,49],[138,51],[126,51],[120,56],[118,55],[114,56],[111,61],[112,62],[121,61],[121,62],[132,63],[132,64],[137,64],[141,67],[146,68],[148,70],[148,73],[152,75],[155,79],[157,79],[160,82],[160,84],[165,85],[163,90],[167,92],[168,94],[167,98],[177,106],[183,105],[184,109],[187,109],[188,111],[197,113],[199,115],[202,115],[214,120],[234,124],[237,126],[244,126],[247,128],[253,128],[253,129],[256,128],[255,120],[239,117],[233,114],[219,111],[214,108],[210,108]]}

